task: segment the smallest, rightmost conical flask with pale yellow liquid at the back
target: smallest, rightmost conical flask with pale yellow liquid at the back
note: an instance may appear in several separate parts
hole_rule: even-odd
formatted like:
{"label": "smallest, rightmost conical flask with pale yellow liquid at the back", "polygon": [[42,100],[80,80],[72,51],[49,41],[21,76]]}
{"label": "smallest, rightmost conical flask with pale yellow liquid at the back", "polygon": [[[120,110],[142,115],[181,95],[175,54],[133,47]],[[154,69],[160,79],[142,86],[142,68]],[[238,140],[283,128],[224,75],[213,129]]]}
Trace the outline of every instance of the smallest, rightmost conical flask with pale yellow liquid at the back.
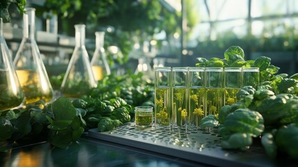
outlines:
{"label": "smallest, rightmost conical flask with pale yellow liquid at the back", "polygon": [[91,60],[91,67],[95,80],[103,79],[104,74],[110,74],[110,66],[106,60],[106,51],[104,50],[104,32],[95,32],[95,51]]}

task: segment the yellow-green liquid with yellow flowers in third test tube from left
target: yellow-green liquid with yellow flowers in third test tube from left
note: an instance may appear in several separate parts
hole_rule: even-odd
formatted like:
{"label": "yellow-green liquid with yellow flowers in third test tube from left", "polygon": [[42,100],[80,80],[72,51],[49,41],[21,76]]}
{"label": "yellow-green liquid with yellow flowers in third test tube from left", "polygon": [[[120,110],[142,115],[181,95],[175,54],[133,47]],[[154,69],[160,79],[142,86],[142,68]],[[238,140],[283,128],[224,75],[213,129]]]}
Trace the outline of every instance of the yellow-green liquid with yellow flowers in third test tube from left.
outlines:
{"label": "yellow-green liquid with yellow flowers in third test tube from left", "polygon": [[205,88],[189,88],[190,125],[199,126],[201,119],[206,116],[204,106],[205,90]]}

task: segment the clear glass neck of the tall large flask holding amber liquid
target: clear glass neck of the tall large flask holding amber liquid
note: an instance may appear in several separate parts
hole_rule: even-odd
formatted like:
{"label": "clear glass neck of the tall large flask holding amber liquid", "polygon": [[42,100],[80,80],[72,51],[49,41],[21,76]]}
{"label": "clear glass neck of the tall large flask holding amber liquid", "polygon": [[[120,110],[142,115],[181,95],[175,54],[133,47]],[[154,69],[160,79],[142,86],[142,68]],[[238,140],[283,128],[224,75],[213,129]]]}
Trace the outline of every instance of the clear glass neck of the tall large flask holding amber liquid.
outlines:
{"label": "clear glass neck of the tall large flask holding amber liquid", "polygon": [[26,14],[23,15],[24,37],[35,38],[35,8],[26,8]]}

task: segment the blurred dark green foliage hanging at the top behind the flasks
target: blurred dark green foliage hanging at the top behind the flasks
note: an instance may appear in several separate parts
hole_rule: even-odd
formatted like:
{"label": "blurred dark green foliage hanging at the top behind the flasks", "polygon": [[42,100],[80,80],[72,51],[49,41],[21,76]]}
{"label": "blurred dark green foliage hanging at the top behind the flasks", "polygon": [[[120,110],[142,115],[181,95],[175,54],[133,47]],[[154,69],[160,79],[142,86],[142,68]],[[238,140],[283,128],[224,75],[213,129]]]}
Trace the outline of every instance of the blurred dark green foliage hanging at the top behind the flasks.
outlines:
{"label": "blurred dark green foliage hanging at the top behind the flasks", "polygon": [[[155,33],[179,32],[180,15],[158,0],[46,0],[37,15],[58,15],[58,33],[74,35],[74,24],[86,25],[86,37],[94,31],[108,31],[105,45],[116,45],[127,59],[135,41],[150,40]],[[127,61],[127,60],[126,60]]]}

